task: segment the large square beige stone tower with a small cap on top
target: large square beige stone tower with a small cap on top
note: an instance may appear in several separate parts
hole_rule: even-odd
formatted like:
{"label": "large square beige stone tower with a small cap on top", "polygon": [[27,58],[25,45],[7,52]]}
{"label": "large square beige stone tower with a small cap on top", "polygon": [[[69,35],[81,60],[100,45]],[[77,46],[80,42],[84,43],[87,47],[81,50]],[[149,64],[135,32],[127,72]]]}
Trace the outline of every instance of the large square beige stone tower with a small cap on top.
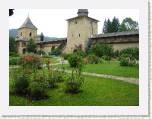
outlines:
{"label": "large square beige stone tower with a small cap on top", "polygon": [[98,33],[98,20],[88,17],[88,9],[78,9],[78,16],[67,19],[67,46],[65,53],[72,52],[75,47],[87,47],[89,38]]}

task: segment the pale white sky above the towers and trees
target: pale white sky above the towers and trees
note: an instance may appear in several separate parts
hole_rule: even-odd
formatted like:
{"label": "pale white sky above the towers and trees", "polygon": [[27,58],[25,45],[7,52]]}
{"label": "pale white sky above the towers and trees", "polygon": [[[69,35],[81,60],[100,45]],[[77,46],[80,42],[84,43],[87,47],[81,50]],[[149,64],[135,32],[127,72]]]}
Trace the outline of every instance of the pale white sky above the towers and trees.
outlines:
{"label": "pale white sky above the towers and trees", "polygon": [[[29,15],[33,24],[38,28],[38,34],[43,32],[49,37],[67,37],[67,19],[76,17],[78,9],[15,9],[9,17],[9,29],[19,28]],[[98,34],[102,33],[105,19],[117,17],[119,22],[131,17],[139,22],[138,9],[88,9],[89,17],[99,20]]]}

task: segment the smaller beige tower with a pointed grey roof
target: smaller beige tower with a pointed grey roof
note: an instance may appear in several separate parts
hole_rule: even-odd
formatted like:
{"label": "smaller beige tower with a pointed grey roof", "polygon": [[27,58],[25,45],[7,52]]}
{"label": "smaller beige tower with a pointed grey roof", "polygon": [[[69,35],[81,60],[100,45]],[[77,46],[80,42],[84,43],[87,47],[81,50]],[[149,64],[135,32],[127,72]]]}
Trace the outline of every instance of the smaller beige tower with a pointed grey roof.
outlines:
{"label": "smaller beige tower with a pointed grey roof", "polygon": [[24,54],[26,52],[26,44],[30,39],[34,41],[37,40],[37,28],[33,25],[28,16],[21,27],[18,28],[16,41],[19,54]]}

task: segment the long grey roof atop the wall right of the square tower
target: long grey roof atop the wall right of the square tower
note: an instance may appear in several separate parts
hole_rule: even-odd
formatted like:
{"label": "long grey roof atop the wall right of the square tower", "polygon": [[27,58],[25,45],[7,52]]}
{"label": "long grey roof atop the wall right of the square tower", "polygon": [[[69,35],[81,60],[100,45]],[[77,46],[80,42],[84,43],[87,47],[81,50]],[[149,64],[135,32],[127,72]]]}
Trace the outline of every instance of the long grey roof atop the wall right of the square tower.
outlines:
{"label": "long grey roof atop the wall right of the square tower", "polygon": [[131,36],[131,35],[139,35],[139,32],[138,31],[129,31],[129,32],[127,31],[127,32],[104,33],[104,34],[97,34],[92,38]]}

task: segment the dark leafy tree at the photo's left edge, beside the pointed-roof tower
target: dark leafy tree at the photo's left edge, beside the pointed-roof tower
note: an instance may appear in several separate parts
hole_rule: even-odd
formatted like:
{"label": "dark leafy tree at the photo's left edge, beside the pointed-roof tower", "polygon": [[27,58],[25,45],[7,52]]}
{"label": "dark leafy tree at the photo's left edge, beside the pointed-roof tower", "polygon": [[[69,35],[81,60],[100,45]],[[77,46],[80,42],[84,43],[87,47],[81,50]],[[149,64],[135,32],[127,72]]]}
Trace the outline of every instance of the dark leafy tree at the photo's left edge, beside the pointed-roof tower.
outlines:
{"label": "dark leafy tree at the photo's left edge, beside the pointed-roof tower", "polygon": [[9,52],[17,53],[17,44],[15,42],[15,38],[13,37],[9,38]]}

